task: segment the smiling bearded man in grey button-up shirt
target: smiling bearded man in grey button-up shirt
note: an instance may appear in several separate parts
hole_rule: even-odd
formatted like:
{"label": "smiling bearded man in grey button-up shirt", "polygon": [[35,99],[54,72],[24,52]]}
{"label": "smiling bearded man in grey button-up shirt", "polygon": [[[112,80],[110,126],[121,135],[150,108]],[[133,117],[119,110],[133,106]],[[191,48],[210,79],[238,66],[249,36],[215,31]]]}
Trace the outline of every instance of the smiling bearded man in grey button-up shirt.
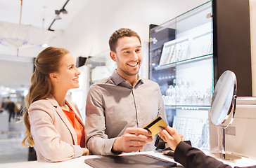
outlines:
{"label": "smiling bearded man in grey button-up shirt", "polygon": [[91,85],[87,96],[87,148],[92,154],[154,150],[151,132],[142,127],[157,116],[167,121],[160,87],[138,75],[141,38],[131,29],[118,29],[109,40],[117,69]]}

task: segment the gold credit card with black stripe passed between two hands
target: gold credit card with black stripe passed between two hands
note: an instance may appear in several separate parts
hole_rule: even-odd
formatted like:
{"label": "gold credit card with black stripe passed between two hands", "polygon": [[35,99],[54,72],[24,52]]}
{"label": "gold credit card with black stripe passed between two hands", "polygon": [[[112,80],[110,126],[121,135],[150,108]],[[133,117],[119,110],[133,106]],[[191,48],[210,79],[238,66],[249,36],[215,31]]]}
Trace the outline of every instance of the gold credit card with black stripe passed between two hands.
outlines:
{"label": "gold credit card with black stripe passed between two hands", "polygon": [[151,123],[148,123],[143,129],[146,129],[152,133],[152,137],[154,137],[156,134],[160,132],[158,127],[167,127],[167,123],[165,123],[164,120],[162,120],[161,116],[158,116],[155,118]]}

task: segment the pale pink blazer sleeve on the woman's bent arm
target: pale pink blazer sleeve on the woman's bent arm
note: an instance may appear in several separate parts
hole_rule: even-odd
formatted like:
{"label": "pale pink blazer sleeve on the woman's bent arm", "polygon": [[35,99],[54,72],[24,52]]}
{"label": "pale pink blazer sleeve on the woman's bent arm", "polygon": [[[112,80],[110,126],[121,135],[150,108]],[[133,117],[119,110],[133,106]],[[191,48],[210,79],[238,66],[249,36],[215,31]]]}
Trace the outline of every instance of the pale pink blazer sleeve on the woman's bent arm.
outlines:
{"label": "pale pink blazer sleeve on the woman's bent arm", "polygon": [[[34,102],[29,108],[31,133],[36,144],[36,152],[49,162],[70,160],[82,155],[80,146],[73,146],[60,140],[60,134],[53,125],[53,109],[46,100]],[[53,106],[52,106],[53,107]],[[54,108],[54,107],[53,107]]]}

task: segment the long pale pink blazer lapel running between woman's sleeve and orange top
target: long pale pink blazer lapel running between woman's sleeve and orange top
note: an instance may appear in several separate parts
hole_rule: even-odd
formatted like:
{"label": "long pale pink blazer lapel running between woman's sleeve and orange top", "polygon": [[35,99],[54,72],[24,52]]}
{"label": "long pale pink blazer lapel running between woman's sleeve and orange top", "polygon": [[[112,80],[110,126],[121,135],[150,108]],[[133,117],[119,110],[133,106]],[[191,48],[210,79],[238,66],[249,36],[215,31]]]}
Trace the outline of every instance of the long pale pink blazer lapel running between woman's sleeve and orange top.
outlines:
{"label": "long pale pink blazer lapel running between woman's sleeve and orange top", "polygon": [[65,116],[65,113],[62,111],[62,109],[58,105],[58,102],[56,101],[56,99],[54,99],[53,96],[47,97],[46,99],[48,99],[49,102],[51,102],[51,104],[53,104],[53,106],[56,108],[56,112],[58,113],[58,116],[60,116],[61,120],[63,120],[63,123],[65,123],[65,125],[68,127],[68,130],[70,130],[70,134],[72,136],[73,143],[75,145],[77,145],[77,134],[75,133],[75,129],[70,124],[70,121]]}

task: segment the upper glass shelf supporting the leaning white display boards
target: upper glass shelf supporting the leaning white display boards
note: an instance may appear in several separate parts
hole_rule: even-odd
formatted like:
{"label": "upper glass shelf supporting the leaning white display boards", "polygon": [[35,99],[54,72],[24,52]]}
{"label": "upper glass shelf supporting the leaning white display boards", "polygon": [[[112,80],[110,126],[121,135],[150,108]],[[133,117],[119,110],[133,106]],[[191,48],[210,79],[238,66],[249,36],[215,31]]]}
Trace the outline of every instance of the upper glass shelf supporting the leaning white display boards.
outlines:
{"label": "upper glass shelf supporting the leaning white display boards", "polygon": [[171,67],[175,67],[181,64],[189,64],[192,62],[200,62],[206,59],[212,59],[213,54],[209,54],[209,55],[203,55],[200,57],[193,57],[191,59],[185,59],[185,60],[181,60],[179,62],[172,62],[170,64],[164,64],[164,65],[158,65],[157,67],[155,67],[155,70],[161,70],[161,69],[167,69],[167,68],[171,68]]}

